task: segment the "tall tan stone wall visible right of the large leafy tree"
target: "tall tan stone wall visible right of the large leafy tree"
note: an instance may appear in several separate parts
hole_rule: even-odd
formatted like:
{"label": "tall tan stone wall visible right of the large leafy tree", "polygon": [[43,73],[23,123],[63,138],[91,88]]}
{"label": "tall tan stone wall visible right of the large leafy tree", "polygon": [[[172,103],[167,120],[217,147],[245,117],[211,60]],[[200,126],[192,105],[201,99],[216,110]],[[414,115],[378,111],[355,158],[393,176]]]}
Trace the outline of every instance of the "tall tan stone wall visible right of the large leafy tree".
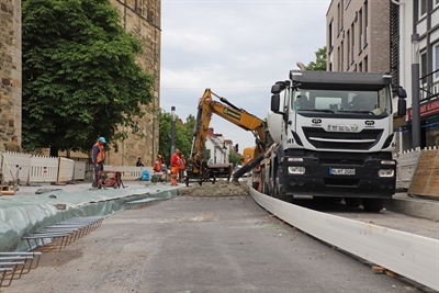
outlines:
{"label": "tall tan stone wall visible right of the large leafy tree", "polygon": [[137,63],[154,77],[154,101],[147,114],[139,121],[142,136],[131,135],[119,144],[119,151],[110,151],[105,164],[130,166],[140,157],[145,166],[153,166],[158,154],[160,112],[160,0],[110,0],[117,8],[122,25],[126,32],[137,36],[143,44],[144,54]]}

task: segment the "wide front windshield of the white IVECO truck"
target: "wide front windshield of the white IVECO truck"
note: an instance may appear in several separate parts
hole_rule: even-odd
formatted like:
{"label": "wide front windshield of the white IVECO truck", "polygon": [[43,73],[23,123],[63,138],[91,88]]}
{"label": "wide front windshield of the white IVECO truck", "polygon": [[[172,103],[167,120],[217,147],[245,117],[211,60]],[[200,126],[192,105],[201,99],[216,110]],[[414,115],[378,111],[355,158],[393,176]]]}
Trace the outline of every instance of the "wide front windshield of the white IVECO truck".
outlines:
{"label": "wide front windshield of the white IVECO truck", "polygon": [[336,114],[391,115],[389,88],[381,90],[312,90],[293,91],[292,108],[296,112],[328,112]]}

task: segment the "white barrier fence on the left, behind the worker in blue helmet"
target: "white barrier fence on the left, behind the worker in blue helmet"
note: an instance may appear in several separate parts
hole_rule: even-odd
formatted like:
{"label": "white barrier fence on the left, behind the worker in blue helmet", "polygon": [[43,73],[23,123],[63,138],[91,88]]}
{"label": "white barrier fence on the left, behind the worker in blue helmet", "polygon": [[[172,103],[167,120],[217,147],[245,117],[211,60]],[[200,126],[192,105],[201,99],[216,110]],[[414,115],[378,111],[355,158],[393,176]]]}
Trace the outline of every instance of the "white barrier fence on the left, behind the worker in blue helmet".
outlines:
{"label": "white barrier fence on the left, behind the worker in blue helmet", "polygon": [[[29,183],[59,183],[75,180],[85,180],[87,164],[63,157],[34,156],[30,154],[0,153],[0,173],[2,182]],[[153,167],[132,167],[105,165],[105,171],[120,171],[122,180],[134,181],[142,178],[147,170],[153,173]],[[1,179],[1,178],[0,178]],[[20,181],[18,180],[20,179]]]}

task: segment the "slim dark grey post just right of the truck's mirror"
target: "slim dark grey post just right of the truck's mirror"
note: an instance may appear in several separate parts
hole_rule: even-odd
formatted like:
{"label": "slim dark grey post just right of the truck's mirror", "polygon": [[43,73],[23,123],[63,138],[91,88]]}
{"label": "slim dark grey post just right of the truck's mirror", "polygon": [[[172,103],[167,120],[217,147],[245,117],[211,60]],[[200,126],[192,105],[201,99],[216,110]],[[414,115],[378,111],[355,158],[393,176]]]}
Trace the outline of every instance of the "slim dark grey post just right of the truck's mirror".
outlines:
{"label": "slim dark grey post just right of the truck's mirror", "polygon": [[412,147],[420,147],[419,34],[412,34]]}

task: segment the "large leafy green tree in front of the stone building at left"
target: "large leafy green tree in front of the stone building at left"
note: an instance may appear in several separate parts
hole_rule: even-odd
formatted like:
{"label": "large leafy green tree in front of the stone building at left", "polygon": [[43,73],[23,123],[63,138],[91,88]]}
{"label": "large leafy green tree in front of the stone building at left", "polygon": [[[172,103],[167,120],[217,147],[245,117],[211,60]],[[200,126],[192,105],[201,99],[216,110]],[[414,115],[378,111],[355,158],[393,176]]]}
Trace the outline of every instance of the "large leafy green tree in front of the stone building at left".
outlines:
{"label": "large leafy green tree in front of the stone building at left", "polygon": [[110,1],[23,0],[22,18],[25,148],[88,151],[136,134],[154,80]]}

